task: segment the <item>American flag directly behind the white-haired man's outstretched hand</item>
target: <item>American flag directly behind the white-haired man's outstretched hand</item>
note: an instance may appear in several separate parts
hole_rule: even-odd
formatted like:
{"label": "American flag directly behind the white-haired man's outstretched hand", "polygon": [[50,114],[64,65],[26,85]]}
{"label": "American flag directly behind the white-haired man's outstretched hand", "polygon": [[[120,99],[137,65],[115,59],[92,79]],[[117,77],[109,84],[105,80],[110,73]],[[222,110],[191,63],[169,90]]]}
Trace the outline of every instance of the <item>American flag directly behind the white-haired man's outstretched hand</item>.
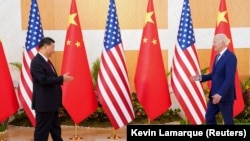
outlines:
{"label": "American flag directly behind the white-haired man's outstretched hand", "polygon": [[189,0],[184,0],[177,44],[171,68],[171,86],[191,124],[205,121],[206,100],[199,81],[191,82],[190,76],[200,72]]}

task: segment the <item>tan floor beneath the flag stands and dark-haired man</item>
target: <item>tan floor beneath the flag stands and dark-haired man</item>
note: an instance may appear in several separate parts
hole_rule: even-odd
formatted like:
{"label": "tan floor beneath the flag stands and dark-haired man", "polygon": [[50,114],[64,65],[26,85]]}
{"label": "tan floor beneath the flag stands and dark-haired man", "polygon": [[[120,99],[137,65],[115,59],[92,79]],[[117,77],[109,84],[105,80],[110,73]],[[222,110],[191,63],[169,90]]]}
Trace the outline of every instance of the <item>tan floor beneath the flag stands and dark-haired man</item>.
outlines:
{"label": "tan floor beneath the flag stands and dark-haired man", "polygon": [[[33,132],[34,128],[30,127],[8,126],[4,141],[33,141]],[[114,130],[113,128],[62,126],[62,137],[64,141],[126,141],[126,127]],[[48,141],[52,139],[49,138]]]}

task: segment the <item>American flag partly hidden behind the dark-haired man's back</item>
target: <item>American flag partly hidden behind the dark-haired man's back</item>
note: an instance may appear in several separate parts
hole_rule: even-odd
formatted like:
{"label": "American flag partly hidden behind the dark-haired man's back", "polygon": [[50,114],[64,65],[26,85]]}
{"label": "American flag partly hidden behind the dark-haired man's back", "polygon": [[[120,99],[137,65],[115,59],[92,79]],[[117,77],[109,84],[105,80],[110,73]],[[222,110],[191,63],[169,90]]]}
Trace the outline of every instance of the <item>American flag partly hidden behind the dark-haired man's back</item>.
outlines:
{"label": "American flag partly hidden behind the dark-haired man's back", "polygon": [[43,38],[43,29],[40,22],[40,14],[36,0],[32,0],[28,31],[23,52],[22,70],[18,86],[18,97],[32,125],[35,126],[35,111],[31,109],[32,78],[30,74],[30,62],[38,52],[38,45]]}

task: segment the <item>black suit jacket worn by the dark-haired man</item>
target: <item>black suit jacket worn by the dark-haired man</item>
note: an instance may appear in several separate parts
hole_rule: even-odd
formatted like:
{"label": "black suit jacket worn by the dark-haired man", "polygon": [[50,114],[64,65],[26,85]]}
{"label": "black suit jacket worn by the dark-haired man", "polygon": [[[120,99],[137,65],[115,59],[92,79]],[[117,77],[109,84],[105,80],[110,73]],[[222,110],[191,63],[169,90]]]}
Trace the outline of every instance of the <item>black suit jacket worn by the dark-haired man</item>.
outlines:
{"label": "black suit jacket worn by the dark-haired man", "polygon": [[62,106],[63,76],[39,54],[32,59],[30,72],[33,81],[32,108],[39,112],[57,111]]}

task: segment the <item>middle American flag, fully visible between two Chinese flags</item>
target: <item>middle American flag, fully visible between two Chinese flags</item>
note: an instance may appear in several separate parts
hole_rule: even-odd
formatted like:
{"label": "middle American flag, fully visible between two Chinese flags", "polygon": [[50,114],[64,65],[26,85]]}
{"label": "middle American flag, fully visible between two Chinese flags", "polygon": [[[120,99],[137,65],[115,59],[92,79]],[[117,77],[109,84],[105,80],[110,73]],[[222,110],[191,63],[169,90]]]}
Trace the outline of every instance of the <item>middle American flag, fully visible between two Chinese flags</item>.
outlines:
{"label": "middle American flag, fully visible between two Chinese flags", "polygon": [[115,1],[110,0],[104,49],[101,54],[97,93],[113,127],[118,129],[134,119],[127,68]]}

